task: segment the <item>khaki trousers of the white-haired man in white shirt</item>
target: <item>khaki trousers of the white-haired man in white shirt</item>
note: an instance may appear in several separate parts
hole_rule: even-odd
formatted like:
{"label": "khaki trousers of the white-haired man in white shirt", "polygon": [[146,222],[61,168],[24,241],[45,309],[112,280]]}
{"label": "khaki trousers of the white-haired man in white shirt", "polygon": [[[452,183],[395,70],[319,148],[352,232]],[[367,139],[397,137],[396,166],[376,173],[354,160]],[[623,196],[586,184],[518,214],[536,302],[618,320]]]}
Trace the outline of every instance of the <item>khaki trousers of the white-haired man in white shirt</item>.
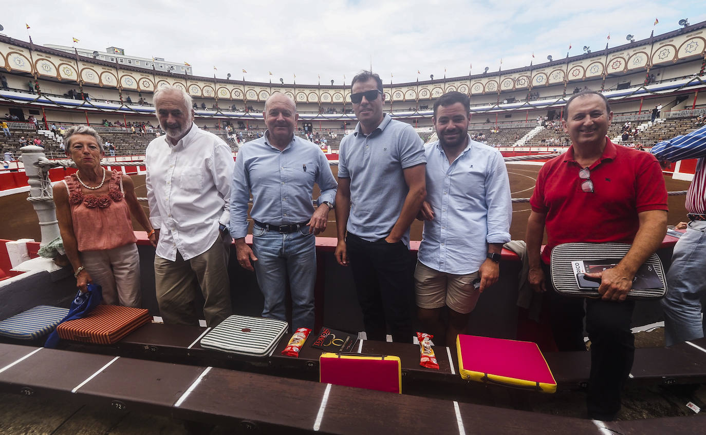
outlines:
{"label": "khaki trousers of the white-haired man in white shirt", "polygon": [[168,324],[198,324],[200,315],[193,301],[201,292],[203,316],[208,326],[216,326],[232,314],[228,259],[230,238],[221,237],[203,254],[185,260],[177,252],[172,262],[155,255],[155,290],[160,315]]}

